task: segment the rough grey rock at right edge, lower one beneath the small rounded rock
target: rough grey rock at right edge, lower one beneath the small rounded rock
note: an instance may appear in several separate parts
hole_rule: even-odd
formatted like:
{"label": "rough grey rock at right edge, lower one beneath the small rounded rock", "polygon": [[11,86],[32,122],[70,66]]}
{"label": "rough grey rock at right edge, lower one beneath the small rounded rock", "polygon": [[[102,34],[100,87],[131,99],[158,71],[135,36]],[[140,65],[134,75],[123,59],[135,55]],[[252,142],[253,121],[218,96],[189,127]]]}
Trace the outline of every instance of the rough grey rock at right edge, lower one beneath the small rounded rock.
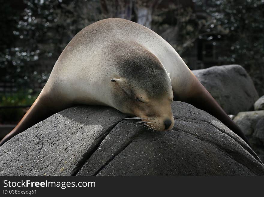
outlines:
{"label": "rough grey rock at right edge, lower one beneath the small rounded rock", "polygon": [[247,136],[256,154],[264,162],[264,110],[239,112],[234,121]]}

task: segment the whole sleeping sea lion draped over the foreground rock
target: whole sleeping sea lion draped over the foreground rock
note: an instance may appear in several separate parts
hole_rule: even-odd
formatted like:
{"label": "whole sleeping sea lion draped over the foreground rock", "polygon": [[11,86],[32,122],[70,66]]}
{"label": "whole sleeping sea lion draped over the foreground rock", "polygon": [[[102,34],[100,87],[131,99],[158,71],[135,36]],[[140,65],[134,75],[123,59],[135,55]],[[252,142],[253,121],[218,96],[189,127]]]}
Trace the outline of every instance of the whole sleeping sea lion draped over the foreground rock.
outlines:
{"label": "whole sleeping sea lion draped over the foreground rock", "polygon": [[0,145],[76,104],[111,106],[150,129],[169,130],[172,100],[207,111],[249,144],[169,43],[135,22],[104,19],[68,43],[38,98]]}

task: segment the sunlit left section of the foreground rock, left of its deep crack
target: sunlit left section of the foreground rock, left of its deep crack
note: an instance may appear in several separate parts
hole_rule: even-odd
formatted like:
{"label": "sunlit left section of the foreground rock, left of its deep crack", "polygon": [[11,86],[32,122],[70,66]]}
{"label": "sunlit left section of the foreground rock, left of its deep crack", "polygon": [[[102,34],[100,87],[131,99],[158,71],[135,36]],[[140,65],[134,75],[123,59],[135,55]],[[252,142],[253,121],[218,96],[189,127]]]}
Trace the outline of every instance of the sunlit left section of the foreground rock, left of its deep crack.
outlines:
{"label": "sunlit left section of the foreground rock, left of its deep crack", "polygon": [[0,175],[74,175],[122,116],[99,106],[52,115],[0,147]]}

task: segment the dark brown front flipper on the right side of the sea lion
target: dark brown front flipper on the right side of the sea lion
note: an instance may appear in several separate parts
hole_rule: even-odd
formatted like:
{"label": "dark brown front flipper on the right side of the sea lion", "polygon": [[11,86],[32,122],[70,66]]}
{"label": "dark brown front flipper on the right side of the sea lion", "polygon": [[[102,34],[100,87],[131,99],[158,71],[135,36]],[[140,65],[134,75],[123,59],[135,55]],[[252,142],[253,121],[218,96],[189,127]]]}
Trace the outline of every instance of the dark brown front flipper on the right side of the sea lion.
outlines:
{"label": "dark brown front flipper on the right side of the sea lion", "polygon": [[[193,76],[192,85],[187,92],[187,96],[180,98],[180,101],[190,103],[191,105],[202,109],[215,118],[225,124],[230,130],[241,137],[250,147],[250,143],[242,130],[235,124],[234,121],[224,112],[220,105],[214,100],[211,94],[205,89],[205,87],[199,82],[199,80]],[[179,97],[177,98],[179,100]],[[252,147],[251,147],[252,148]]]}

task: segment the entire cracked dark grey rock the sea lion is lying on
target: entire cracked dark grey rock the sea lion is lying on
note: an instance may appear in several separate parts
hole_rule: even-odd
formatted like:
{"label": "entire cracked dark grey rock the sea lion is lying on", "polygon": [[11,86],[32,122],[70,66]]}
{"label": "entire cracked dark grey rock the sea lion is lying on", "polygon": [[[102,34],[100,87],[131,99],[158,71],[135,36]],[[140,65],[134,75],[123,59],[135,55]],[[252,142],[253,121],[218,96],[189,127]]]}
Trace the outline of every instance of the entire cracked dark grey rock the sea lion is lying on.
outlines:
{"label": "entire cracked dark grey rock the sea lion is lying on", "polygon": [[176,124],[150,132],[115,109],[77,106],[0,147],[0,175],[264,175],[257,155],[208,113],[173,102]]}

